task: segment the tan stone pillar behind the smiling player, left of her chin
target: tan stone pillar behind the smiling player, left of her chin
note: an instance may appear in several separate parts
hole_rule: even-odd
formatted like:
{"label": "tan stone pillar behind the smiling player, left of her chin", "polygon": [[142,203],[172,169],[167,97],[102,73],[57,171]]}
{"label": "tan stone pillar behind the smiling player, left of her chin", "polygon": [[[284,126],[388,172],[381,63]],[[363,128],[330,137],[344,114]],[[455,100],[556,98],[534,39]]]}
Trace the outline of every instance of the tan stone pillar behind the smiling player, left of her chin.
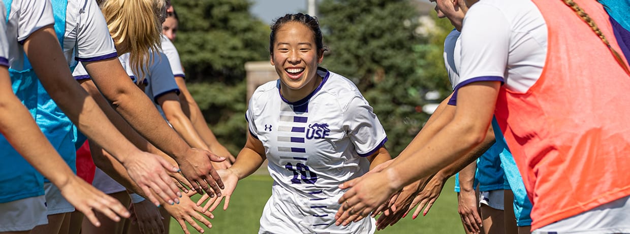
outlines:
{"label": "tan stone pillar behind the smiling player, left of her chin", "polygon": [[269,61],[246,62],[245,70],[247,72],[247,102],[249,97],[254,93],[256,88],[261,84],[278,79],[275,68]]}

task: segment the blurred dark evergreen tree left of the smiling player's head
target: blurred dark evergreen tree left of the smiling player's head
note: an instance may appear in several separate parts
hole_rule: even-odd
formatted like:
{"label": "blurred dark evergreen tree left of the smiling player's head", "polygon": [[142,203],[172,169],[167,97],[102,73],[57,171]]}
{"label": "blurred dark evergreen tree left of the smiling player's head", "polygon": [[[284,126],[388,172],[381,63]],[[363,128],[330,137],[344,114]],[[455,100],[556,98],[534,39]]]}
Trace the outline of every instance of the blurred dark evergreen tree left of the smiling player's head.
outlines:
{"label": "blurred dark evergreen tree left of the smiling player's head", "polygon": [[232,154],[245,143],[248,61],[268,59],[269,26],[248,0],[174,0],[180,18],[175,45],[186,82],[210,129]]}

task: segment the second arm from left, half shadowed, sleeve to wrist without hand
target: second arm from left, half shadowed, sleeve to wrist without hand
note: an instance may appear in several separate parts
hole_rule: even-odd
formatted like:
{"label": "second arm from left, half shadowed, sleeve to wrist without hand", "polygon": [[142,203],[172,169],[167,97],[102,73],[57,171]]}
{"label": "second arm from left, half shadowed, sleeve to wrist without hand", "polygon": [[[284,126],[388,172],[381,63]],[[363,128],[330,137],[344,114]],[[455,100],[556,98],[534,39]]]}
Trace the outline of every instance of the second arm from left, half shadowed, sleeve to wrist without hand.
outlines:
{"label": "second arm from left, half shadowed, sleeve to wrist without hand", "polygon": [[139,152],[132,143],[120,140],[124,139],[123,135],[105,117],[94,99],[72,79],[70,70],[64,69],[66,59],[52,26],[32,33],[24,48],[42,86],[81,132],[103,145],[121,162],[127,155]]}

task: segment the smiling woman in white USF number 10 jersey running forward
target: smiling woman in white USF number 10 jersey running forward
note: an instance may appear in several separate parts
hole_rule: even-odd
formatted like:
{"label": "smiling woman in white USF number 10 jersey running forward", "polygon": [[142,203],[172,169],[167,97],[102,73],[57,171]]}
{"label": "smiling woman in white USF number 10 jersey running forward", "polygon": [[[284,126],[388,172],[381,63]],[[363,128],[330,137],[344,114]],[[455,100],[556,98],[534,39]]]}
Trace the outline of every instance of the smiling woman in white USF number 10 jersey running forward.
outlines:
{"label": "smiling woman in white USF number 10 jersey running forward", "polygon": [[385,131],[351,81],[318,67],[325,48],[317,19],[287,14],[271,28],[271,64],[280,79],[258,87],[249,101],[247,143],[234,165],[220,170],[224,208],[238,180],[268,159],[273,194],[259,233],[373,233],[373,218],[335,226],[344,192],[336,184],[391,159]]}

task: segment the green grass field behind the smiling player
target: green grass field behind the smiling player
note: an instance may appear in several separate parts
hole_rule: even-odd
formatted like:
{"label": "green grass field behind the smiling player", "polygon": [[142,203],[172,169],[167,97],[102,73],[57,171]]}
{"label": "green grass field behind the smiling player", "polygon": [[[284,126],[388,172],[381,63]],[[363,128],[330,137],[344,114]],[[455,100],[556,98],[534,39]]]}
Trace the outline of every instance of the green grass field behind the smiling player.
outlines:
{"label": "green grass field behind the smiling player", "polygon": [[[272,183],[272,178],[268,175],[250,175],[240,181],[232,194],[230,207],[227,211],[218,208],[213,213],[215,218],[210,220],[213,227],[206,228],[205,233],[258,233],[258,220],[267,199],[271,196]],[[453,185],[454,180],[450,179],[427,216],[419,216],[416,220],[411,220],[411,215],[409,215],[396,225],[377,233],[463,233],[457,214],[457,196],[453,192]],[[197,199],[198,196],[193,198],[195,201]],[[188,230],[191,233],[197,233],[190,226]],[[172,218],[169,233],[183,233],[180,225]]]}

